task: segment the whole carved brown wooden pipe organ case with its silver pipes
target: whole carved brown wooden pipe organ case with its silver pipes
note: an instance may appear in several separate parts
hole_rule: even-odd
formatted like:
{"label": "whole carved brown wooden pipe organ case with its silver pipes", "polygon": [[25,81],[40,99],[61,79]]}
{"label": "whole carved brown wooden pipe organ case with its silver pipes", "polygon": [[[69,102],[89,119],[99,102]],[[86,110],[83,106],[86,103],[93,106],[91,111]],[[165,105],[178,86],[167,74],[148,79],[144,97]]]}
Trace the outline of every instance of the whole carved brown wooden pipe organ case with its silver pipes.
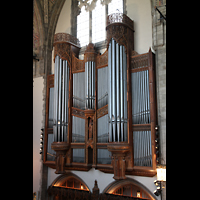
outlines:
{"label": "whole carved brown wooden pipe organ case with its silver pipes", "polygon": [[91,168],[125,175],[156,174],[155,56],[134,51],[133,21],[107,17],[100,55],[67,33],[54,36],[55,73],[48,75],[43,162],[56,169]]}

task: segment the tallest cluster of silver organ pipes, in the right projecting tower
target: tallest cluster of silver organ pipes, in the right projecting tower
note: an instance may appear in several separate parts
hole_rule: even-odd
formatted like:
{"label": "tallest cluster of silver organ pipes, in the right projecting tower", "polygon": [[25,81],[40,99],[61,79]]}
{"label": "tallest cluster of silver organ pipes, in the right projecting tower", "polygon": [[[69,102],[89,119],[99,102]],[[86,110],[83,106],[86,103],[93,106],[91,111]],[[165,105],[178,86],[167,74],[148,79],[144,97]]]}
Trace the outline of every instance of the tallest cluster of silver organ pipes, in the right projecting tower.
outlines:
{"label": "tallest cluster of silver organ pipes, in the right projecting tower", "polygon": [[109,141],[127,141],[127,60],[125,47],[113,38],[108,49]]}

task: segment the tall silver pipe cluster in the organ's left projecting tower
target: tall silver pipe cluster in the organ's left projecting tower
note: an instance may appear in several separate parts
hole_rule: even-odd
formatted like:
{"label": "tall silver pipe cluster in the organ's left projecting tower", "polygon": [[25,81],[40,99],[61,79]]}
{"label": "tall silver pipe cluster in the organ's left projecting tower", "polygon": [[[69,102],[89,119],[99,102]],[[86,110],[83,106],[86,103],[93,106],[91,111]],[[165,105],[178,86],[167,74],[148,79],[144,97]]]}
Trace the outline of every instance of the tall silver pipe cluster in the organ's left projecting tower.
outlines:
{"label": "tall silver pipe cluster in the organ's left projecting tower", "polygon": [[65,142],[68,127],[69,67],[67,61],[58,55],[55,58],[54,71],[54,142]]}

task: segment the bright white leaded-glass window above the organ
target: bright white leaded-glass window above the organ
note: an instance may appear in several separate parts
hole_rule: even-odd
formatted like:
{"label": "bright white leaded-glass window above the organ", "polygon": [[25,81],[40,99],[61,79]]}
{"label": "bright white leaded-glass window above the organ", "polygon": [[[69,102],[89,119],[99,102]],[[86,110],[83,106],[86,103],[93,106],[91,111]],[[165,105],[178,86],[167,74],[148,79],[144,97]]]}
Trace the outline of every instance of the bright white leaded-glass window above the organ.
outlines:
{"label": "bright white leaded-glass window above the organ", "polygon": [[[82,6],[81,13],[77,16],[77,38],[81,47],[89,42],[99,43],[106,39],[106,17],[111,13],[123,13],[124,1],[112,0],[89,1],[89,6]],[[94,3],[95,2],[95,3]],[[80,6],[79,2],[79,6]],[[82,5],[82,4],[81,4]]]}

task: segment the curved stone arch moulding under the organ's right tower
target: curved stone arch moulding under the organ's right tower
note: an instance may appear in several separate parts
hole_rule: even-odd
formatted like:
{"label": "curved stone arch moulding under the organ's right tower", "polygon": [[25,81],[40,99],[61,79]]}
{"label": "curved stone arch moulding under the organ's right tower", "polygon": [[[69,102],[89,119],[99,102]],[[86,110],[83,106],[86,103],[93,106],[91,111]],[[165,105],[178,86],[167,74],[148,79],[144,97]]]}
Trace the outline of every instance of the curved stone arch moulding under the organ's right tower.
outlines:
{"label": "curved stone arch moulding under the organ's right tower", "polygon": [[135,188],[139,188],[148,196],[148,198],[152,200],[157,200],[156,197],[153,195],[153,193],[147,187],[145,187],[142,183],[131,178],[113,181],[103,190],[102,193],[113,194],[117,189],[122,188],[123,186],[127,186],[127,185],[132,185]]}

